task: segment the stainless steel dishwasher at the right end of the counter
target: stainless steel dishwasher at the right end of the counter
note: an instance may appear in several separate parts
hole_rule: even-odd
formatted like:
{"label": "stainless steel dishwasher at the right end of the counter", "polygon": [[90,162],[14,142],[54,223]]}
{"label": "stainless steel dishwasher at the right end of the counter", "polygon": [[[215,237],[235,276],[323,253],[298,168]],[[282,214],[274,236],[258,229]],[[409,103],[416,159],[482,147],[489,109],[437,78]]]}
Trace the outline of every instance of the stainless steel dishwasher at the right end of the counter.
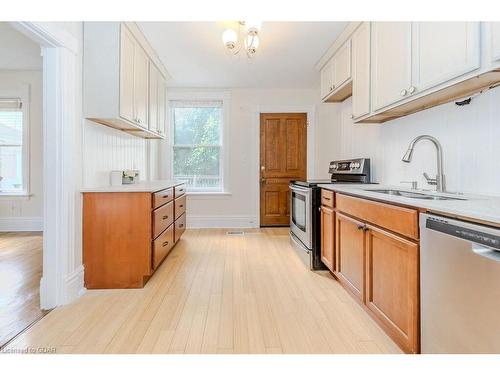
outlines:
{"label": "stainless steel dishwasher at the right end of the counter", "polygon": [[500,229],[420,215],[422,353],[500,353]]}

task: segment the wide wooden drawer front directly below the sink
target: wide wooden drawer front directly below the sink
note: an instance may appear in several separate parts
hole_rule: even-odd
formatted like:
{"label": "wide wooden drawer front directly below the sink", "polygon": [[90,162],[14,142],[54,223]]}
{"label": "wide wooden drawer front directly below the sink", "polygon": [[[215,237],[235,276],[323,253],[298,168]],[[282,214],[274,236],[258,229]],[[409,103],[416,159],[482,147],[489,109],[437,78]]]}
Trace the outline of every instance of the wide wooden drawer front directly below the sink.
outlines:
{"label": "wide wooden drawer front directly below the sink", "polygon": [[403,236],[418,239],[418,211],[411,208],[369,201],[337,194],[337,211],[386,228]]}

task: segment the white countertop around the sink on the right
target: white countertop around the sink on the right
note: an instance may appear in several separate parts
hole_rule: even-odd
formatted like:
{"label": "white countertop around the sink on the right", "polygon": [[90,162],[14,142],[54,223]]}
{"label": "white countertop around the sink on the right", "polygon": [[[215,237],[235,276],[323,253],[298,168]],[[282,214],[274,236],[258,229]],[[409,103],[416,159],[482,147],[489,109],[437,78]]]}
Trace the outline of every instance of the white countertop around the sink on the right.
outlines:
{"label": "white countertop around the sink on the right", "polygon": [[[493,224],[500,225],[500,197],[488,197],[479,195],[457,195],[457,194],[442,194],[450,197],[466,198],[467,200],[429,200],[406,198],[401,196],[376,193],[369,190],[374,189],[397,189],[411,192],[407,188],[401,186],[388,185],[363,185],[363,184],[320,184],[319,187],[333,190],[339,193],[346,193],[362,198],[375,199],[377,201],[402,204],[416,208],[423,208],[429,212],[441,214],[445,216],[462,217],[472,221],[487,221]],[[430,191],[413,190],[414,192],[423,192],[427,194],[438,194]]]}

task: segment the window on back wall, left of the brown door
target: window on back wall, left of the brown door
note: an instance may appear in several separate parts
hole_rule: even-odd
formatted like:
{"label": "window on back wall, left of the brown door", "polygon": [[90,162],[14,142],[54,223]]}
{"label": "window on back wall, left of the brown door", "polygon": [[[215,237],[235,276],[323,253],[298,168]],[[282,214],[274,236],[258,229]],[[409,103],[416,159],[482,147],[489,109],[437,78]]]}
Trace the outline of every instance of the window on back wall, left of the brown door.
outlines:
{"label": "window on back wall, left of the brown door", "polygon": [[223,102],[170,101],[173,178],[188,191],[223,190]]}

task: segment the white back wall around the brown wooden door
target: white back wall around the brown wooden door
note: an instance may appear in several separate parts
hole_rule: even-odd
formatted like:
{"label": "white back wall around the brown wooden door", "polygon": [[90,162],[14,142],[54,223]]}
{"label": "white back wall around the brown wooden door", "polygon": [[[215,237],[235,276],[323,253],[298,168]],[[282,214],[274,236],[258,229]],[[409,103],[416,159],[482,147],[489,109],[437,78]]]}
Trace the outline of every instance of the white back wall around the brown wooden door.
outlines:
{"label": "white back wall around the brown wooden door", "polygon": [[[185,90],[177,90],[185,91]],[[175,95],[176,90],[170,90]],[[230,113],[228,126],[229,168],[227,171],[228,189],[231,195],[188,197],[188,226],[232,226],[252,227],[257,225],[259,216],[258,192],[258,152],[259,152],[259,112],[276,109],[312,109],[314,124],[326,123],[337,110],[319,104],[318,90],[274,90],[274,89],[232,89],[230,92]],[[309,119],[312,120],[312,119]],[[315,144],[318,142],[315,129],[309,129],[308,175],[318,177],[318,173],[328,170],[329,153],[318,157]],[[324,142],[324,139],[321,140]],[[326,143],[325,143],[326,144]],[[330,154],[332,148],[328,148]],[[312,160],[311,160],[312,158]],[[318,161],[315,159],[318,158]],[[323,165],[324,164],[324,165]],[[169,178],[171,171],[167,163],[163,169],[164,177]],[[321,176],[321,175],[319,175]],[[324,177],[324,176],[323,176]]]}

